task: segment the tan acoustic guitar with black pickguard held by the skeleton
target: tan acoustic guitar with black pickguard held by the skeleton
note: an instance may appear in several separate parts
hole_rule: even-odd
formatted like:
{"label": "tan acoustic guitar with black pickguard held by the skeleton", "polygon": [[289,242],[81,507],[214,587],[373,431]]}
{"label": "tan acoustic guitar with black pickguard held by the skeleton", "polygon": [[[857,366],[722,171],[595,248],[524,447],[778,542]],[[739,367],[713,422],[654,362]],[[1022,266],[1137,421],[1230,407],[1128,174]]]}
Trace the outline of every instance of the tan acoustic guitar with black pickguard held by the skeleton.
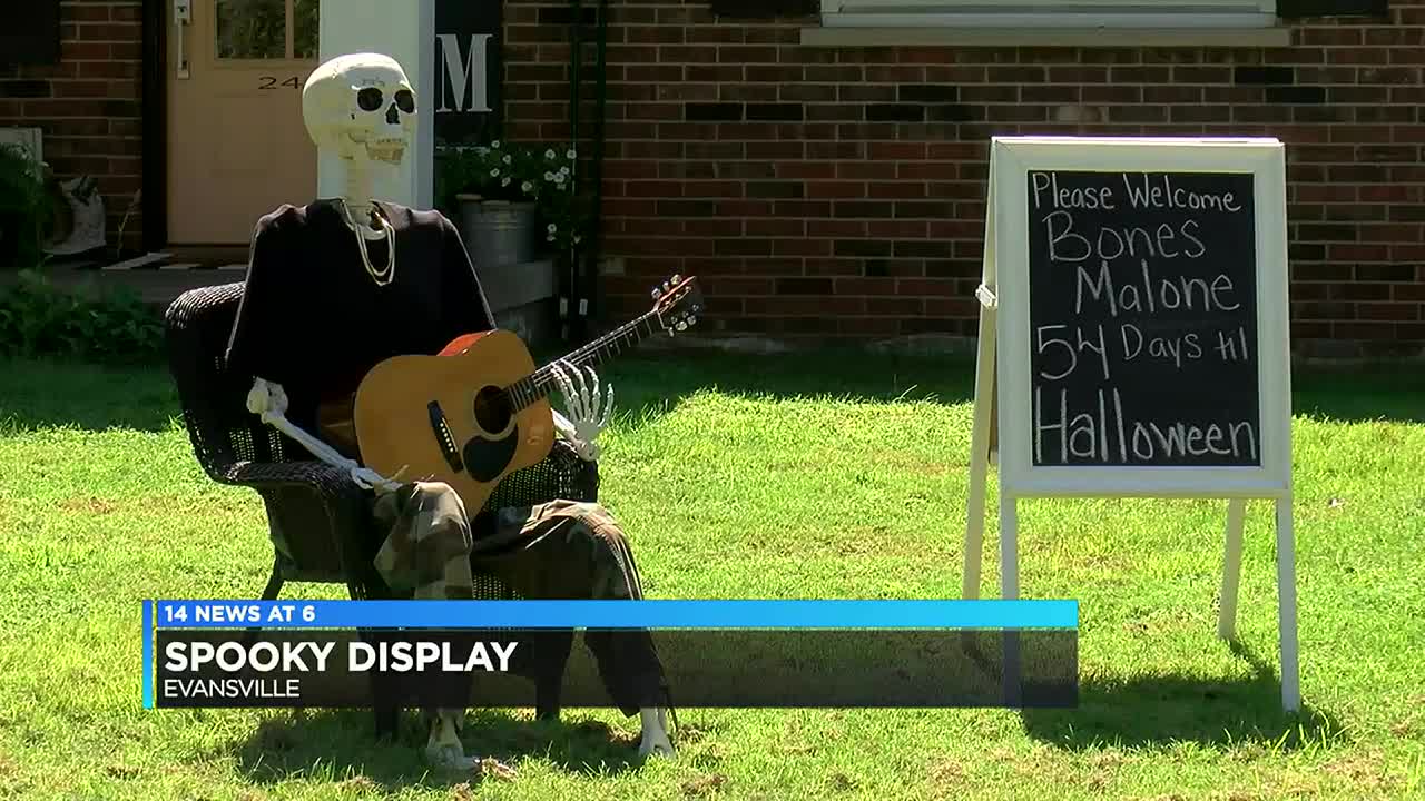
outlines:
{"label": "tan acoustic guitar with black pickguard held by the skeleton", "polygon": [[697,278],[674,275],[653,298],[643,316],[539,369],[509,331],[467,334],[435,356],[386,359],[345,415],[342,405],[322,406],[322,438],[343,450],[355,445],[362,463],[388,479],[445,482],[473,513],[500,479],[549,456],[556,365],[597,365],[658,331],[687,331],[703,311]]}

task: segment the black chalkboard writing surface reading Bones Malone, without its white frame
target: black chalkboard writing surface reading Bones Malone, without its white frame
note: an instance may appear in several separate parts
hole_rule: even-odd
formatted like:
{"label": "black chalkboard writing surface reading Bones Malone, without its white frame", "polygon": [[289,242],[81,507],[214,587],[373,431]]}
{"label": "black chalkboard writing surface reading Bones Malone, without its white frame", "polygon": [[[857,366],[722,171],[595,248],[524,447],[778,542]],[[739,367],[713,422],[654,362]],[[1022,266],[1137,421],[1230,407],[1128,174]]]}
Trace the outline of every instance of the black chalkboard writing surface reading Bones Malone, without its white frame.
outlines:
{"label": "black chalkboard writing surface reading Bones Malone, without its white frame", "polygon": [[1035,466],[1260,466],[1253,175],[1036,170]]}

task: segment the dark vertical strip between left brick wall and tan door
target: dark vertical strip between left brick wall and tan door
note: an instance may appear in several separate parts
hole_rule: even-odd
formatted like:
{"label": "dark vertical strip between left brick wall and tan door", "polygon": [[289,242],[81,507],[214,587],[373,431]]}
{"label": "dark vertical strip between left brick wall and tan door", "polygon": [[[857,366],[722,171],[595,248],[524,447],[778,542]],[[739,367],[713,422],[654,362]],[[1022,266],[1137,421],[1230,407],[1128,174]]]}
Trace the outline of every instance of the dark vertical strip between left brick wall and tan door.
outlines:
{"label": "dark vertical strip between left brick wall and tan door", "polygon": [[172,0],[144,0],[142,9],[142,244],[168,245],[168,16]]}

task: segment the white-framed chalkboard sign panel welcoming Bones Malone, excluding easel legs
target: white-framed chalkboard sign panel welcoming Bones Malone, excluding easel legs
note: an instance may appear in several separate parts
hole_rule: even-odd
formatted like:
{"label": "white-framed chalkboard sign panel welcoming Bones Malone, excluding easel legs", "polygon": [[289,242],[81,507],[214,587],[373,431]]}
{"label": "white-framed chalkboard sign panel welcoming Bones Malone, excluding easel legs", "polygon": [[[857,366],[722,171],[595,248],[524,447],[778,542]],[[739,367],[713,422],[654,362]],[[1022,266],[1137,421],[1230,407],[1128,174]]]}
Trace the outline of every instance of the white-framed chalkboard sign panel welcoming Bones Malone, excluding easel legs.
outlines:
{"label": "white-framed chalkboard sign panel welcoming Bones Malone, excluding easel legs", "polygon": [[1281,143],[996,137],[990,153],[993,372],[976,405],[993,405],[1005,489],[1277,497],[1291,466]]}

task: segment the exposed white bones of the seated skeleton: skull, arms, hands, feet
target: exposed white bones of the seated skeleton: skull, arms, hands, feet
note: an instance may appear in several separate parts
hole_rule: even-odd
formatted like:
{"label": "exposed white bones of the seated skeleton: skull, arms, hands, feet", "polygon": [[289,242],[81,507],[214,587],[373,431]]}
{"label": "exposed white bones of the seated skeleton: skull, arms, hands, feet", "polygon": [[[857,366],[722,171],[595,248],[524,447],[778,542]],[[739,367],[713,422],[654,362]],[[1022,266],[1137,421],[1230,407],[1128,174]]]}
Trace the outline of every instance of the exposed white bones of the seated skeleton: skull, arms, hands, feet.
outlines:
{"label": "exposed white bones of the seated skeleton: skull, arms, hands, feet", "polygon": [[[302,91],[302,117],[308,134],[319,150],[341,157],[346,170],[345,190],[341,198],[346,224],[361,245],[362,261],[372,279],[389,282],[396,271],[395,231],[372,201],[372,174],[376,168],[399,165],[415,137],[416,97],[406,80],[405,70],[393,58],[375,53],[339,56],[326,61]],[[376,268],[366,254],[366,241],[386,239],[389,254],[386,265]],[[576,449],[584,460],[598,459],[598,433],[608,425],[613,410],[613,386],[606,396],[600,393],[598,375],[593,368],[580,371],[569,362],[564,369],[556,368],[554,376],[569,405],[570,418],[554,416],[554,428]],[[398,489],[395,476],[378,475],[361,463],[342,456],[321,439],[292,425],[286,416],[288,399],[282,386],[258,378],[248,392],[247,408],[264,423],[281,430],[306,448],[322,462],[346,470],[356,485],[378,493]],[[667,734],[667,713],[660,707],[640,710],[643,738],[638,754],[671,755],[673,744]],[[432,744],[443,743],[460,750],[453,721],[440,718],[430,733]],[[456,760],[460,767],[479,764]]]}

